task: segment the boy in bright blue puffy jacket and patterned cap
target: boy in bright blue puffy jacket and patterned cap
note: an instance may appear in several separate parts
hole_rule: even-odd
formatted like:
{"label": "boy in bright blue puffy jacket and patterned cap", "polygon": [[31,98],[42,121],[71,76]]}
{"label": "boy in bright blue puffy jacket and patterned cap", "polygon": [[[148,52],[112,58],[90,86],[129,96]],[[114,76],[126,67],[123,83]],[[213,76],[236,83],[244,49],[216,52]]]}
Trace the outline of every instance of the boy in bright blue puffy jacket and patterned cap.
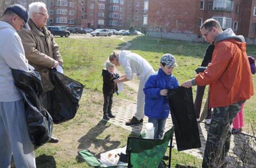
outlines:
{"label": "boy in bright blue puffy jacket and patterned cap", "polygon": [[158,72],[152,74],[146,84],[145,93],[145,110],[148,122],[154,125],[154,139],[161,139],[164,133],[164,125],[169,115],[168,89],[179,87],[178,80],[172,75],[176,64],[171,54],[164,54],[160,60]]}

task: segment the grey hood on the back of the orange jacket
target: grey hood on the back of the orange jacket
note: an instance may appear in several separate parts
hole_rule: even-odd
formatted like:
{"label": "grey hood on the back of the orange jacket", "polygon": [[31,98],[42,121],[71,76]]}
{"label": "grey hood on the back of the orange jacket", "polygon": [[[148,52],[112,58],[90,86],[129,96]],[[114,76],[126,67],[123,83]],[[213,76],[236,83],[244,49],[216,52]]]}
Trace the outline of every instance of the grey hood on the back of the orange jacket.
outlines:
{"label": "grey hood on the back of the orange jacket", "polygon": [[235,39],[236,41],[244,42],[244,36],[236,35],[232,29],[228,28],[216,37],[214,41],[214,45],[216,45],[216,43],[220,41],[227,40],[227,39]]}

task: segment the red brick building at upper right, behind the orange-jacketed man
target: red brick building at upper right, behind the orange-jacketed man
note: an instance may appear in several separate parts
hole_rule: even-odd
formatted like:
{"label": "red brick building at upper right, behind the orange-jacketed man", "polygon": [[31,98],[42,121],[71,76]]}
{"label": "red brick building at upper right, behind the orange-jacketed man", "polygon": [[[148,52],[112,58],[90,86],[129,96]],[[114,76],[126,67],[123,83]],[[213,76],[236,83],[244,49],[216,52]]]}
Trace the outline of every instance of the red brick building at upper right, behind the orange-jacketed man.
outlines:
{"label": "red brick building at upper right, behind the orange-jacketed man", "polygon": [[147,0],[147,29],[150,36],[204,41],[200,26],[208,18],[223,29],[244,35],[248,44],[256,39],[256,0]]}

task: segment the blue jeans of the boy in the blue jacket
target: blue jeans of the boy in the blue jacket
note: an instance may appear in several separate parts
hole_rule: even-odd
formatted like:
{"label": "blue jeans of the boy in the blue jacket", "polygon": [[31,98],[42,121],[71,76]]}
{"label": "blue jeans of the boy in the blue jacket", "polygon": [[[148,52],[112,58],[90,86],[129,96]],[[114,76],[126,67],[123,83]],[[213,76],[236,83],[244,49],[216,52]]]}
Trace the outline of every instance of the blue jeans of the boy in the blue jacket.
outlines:
{"label": "blue jeans of the boy in the blue jacket", "polygon": [[161,139],[164,135],[166,119],[148,118],[148,122],[154,125],[154,139]]}

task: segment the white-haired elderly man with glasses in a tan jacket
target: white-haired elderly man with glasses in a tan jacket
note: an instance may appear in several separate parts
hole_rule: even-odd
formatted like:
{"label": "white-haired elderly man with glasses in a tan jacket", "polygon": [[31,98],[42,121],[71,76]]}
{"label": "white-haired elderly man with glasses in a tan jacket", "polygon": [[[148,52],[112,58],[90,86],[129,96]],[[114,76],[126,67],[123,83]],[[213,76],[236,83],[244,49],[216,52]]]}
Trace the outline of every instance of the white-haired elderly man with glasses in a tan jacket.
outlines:
{"label": "white-haired elderly man with glasses in a tan jacket", "polygon": [[[28,25],[30,31],[22,29],[19,32],[24,47],[26,59],[35,70],[40,72],[44,92],[42,100],[44,108],[50,109],[50,93],[53,85],[50,80],[49,71],[51,68],[63,65],[63,60],[59,52],[59,46],[54,41],[54,36],[46,29],[48,12],[46,4],[43,2],[33,2],[29,5]],[[51,111],[49,111],[51,113]],[[58,143],[58,139],[50,140],[52,143]]]}

